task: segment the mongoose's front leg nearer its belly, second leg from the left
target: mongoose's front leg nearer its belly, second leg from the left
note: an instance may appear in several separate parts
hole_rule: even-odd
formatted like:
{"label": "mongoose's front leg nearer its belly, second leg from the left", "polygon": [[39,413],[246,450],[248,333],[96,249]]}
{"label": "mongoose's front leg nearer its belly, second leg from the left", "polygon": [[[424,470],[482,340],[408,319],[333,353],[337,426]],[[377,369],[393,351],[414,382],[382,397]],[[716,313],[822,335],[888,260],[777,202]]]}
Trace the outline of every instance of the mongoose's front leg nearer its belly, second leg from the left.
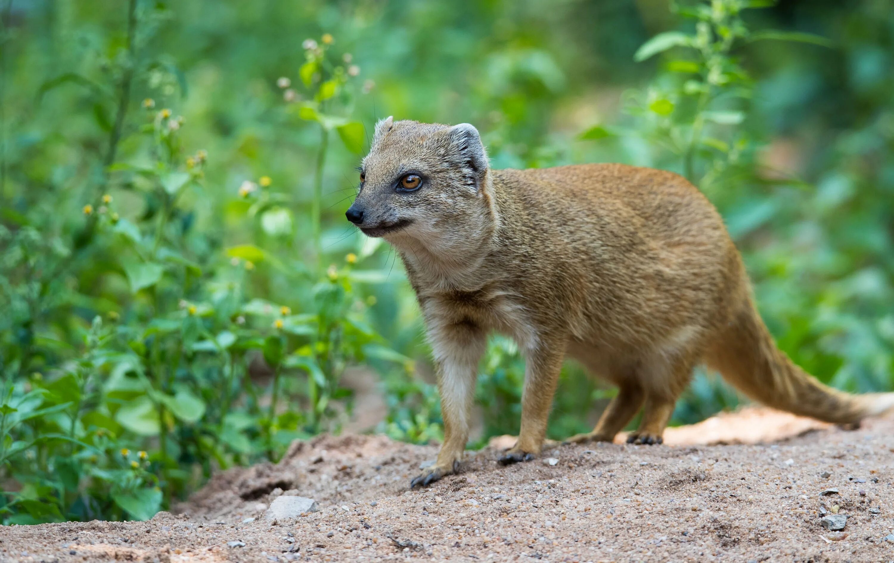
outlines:
{"label": "mongoose's front leg nearer its belly, second leg from the left", "polygon": [[563,345],[544,343],[527,356],[525,389],[521,394],[519,441],[500,458],[502,465],[530,461],[540,454],[546,438],[546,423],[552,408],[552,395],[559,382]]}

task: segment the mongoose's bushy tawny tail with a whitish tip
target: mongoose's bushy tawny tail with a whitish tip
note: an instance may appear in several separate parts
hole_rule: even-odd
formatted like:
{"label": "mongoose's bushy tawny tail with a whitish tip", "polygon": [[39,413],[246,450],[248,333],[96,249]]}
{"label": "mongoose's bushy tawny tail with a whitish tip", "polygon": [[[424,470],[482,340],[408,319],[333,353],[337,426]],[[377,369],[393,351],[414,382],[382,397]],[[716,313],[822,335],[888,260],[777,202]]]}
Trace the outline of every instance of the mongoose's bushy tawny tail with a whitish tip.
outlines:
{"label": "mongoose's bushy tawny tail with a whitish tip", "polygon": [[722,330],[704,358],[707,365],[764,405],[836,424],[894,409],[894,393],[850,395],[823,385],[776,348],[749,300]]}

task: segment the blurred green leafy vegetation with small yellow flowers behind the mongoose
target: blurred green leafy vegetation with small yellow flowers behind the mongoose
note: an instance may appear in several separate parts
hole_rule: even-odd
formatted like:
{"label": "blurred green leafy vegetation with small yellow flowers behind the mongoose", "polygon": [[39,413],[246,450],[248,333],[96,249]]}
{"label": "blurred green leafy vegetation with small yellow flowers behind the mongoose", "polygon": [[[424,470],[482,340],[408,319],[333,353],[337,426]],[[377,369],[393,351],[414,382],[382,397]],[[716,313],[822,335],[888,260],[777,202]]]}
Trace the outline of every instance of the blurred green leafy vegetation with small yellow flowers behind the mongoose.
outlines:
{"label": "blurred green leafy vegetation with small yellow flowers behind the mongoose", "polygon": [[[497,168],[686,175],[780,348],[841,389],[894,384],[890,0],[0,0],[0,19],[4,524],[148,518],[358,414],[440,438],[400,260],[343,218],[387,115],[471,122]],[[494,338],[473,447],[517,433],[522,377]],[[612,392],[567,366],[550,435]],[[698,372],[673,422],[738,401]]]}

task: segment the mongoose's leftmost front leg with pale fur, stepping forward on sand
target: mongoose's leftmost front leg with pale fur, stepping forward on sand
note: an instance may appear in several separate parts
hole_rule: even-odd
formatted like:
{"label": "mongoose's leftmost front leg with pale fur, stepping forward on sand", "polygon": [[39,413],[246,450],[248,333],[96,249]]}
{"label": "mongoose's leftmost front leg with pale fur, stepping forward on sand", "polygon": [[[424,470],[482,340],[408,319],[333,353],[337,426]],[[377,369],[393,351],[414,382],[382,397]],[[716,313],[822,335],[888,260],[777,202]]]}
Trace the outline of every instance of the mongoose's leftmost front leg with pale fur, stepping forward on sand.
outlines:
{"label": "mongoose's leftmost front leg with pale fur, stepping forward on sand", "polygon": [[428,466],[409,482],[409,487],[426,486],[460,465],[468,441],[468,421],[475,397],[478,360],[485,351],[485,334],[469,324],[435,325],[430,330],[444,441],[433,466]]}

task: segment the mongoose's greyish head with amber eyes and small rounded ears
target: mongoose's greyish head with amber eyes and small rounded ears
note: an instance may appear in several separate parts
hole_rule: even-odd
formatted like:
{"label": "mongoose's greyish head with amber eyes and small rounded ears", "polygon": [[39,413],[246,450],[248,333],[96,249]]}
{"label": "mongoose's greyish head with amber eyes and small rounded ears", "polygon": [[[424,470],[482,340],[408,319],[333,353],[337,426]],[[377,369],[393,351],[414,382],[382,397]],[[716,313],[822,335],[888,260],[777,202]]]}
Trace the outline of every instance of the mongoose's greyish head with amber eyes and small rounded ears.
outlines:
{"label": "mongoose's greyish head with amber eyes and small rounded ears", "polygon": [[370,237],[446,251],[484,228],[487,170],[472,125],[389,117],[375,125],[359,193],[345,215]]}

